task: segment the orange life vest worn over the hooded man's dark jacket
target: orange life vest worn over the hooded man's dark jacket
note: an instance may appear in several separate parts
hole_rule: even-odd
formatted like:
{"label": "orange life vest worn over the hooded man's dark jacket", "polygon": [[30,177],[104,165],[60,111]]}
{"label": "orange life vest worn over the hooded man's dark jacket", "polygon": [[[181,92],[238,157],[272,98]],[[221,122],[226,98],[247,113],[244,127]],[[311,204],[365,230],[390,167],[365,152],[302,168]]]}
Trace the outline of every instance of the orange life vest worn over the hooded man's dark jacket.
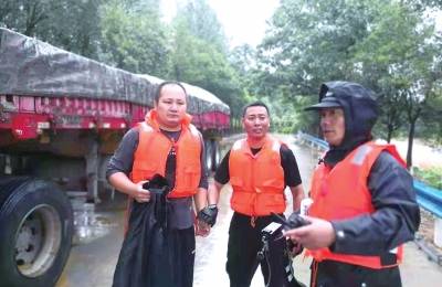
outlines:
{"label": "orange life vest worn over the hooded man's dark jacket", "polygon": [[[311,195],[314,202],[308,210],[308,215],[332,221],[373,213],[375,208],[371,204],[367,180],[372,164],[382,150],[390,152],[402,166],[406,164],[394,146],[375,142],[361,145],[332,170],[320,163],[312,180]],[[339,254],[329,248],[307,251],[307,255],[313,256],[317,262],[330,259],[380,269],[397,266],[402,262],[402,246],[390,252],[396,253],[397,258],[391,265],[382,265],[380,256]]]}

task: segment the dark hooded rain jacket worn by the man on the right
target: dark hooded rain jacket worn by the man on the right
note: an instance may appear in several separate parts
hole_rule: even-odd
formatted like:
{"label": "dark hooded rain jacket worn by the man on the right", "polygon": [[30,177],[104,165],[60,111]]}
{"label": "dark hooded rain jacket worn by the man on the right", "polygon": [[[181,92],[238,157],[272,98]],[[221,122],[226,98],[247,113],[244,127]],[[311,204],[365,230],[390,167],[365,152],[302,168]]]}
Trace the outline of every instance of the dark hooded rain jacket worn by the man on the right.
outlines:
{"label": "dark hooded rain jacket worn by the man on the right", "polygon": [[[322,86],[319,99],[325,95],[339,103],[345,116],[344,140],[339,146],[330,146],[324,158],[325,164],[334,167],[358,146],[371,140],[378,107],[373,93],[356,83],[326,83]],[[389,251],[413,240],[420,224],[412,180],[389,152],[382,151],[367,179],[376,211],[332,221],[336,241],[330,249],[343,254],[380,256],[385,265],[394,263],[396,256]],[[314,263],[313,267],[316,286],[401,286],[398,267],[371,269],[334,261]]]}

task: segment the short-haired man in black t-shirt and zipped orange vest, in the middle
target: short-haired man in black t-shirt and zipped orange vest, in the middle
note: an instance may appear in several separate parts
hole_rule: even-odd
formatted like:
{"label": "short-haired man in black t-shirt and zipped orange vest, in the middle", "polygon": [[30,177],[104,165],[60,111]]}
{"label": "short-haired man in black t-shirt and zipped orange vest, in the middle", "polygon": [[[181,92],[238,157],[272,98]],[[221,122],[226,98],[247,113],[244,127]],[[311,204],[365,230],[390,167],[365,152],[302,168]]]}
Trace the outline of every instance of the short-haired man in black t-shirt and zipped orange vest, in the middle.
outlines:
{"label": "short-haired man in black t-shirt and zipped orange vest, in the middle", "polygon": [[285,144],[267,135],[270,115],[263,103],[245,106],[242,124],[246,138],[223,158],[209,189],[209,203],[217,204],[222,185],[230,182],[233,188],[227,262],[230,286],[250,286],[260,264],[266,286],[298,286],[285,240],[272,241],[271,253],[261,262],[256,258],[263,248],[262,230],[273,221],[271,213],[282,215],[286,209],[286,187],[293,196],[291,210],[299,210],[304,191],[296,159]]}

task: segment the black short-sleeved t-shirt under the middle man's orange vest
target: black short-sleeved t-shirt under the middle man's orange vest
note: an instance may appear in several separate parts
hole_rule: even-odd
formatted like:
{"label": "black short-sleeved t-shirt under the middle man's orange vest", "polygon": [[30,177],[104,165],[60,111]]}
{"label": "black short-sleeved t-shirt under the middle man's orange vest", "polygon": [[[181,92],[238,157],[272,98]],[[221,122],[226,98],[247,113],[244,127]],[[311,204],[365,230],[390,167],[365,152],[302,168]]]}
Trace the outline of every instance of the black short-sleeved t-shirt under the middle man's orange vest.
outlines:
{"label": "black short-sleeved t-shirt under the middle man's orange vest", "polygon": [[[261,149],[251,149],[253,155],[256,155],[260,150]],[[295,156],[293,155],[292,150],[285,145],[281,145],[280,156],[281,156],[281,166],[283,167],[284,170],[285,185],[291,188],[297,187],[298,184],[302,183],[302,180]],[[230,151],[222,159],[214,174],[214,180],[221,184],[225,184],[230,180],[229,158],[230,158]]]}

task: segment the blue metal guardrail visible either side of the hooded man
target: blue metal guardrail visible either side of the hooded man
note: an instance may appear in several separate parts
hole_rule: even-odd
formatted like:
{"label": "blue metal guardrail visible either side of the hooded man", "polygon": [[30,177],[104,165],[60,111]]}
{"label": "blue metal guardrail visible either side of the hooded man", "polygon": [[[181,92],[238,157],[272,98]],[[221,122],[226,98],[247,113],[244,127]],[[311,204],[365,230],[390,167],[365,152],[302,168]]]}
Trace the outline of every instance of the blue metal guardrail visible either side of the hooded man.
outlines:
{"label": "blue metal guardrail visible either side of the hooded man", "polygon": [[[299,131],[297,138],[308,141],[318,148],[328,149],[327,141],[316,138],[312,135]],[[442,191],[424,184],[421,181],[413,180],[414,191],[417,194],[418,203],[421,208],[428,210],[435,216],[442,219]]]}

